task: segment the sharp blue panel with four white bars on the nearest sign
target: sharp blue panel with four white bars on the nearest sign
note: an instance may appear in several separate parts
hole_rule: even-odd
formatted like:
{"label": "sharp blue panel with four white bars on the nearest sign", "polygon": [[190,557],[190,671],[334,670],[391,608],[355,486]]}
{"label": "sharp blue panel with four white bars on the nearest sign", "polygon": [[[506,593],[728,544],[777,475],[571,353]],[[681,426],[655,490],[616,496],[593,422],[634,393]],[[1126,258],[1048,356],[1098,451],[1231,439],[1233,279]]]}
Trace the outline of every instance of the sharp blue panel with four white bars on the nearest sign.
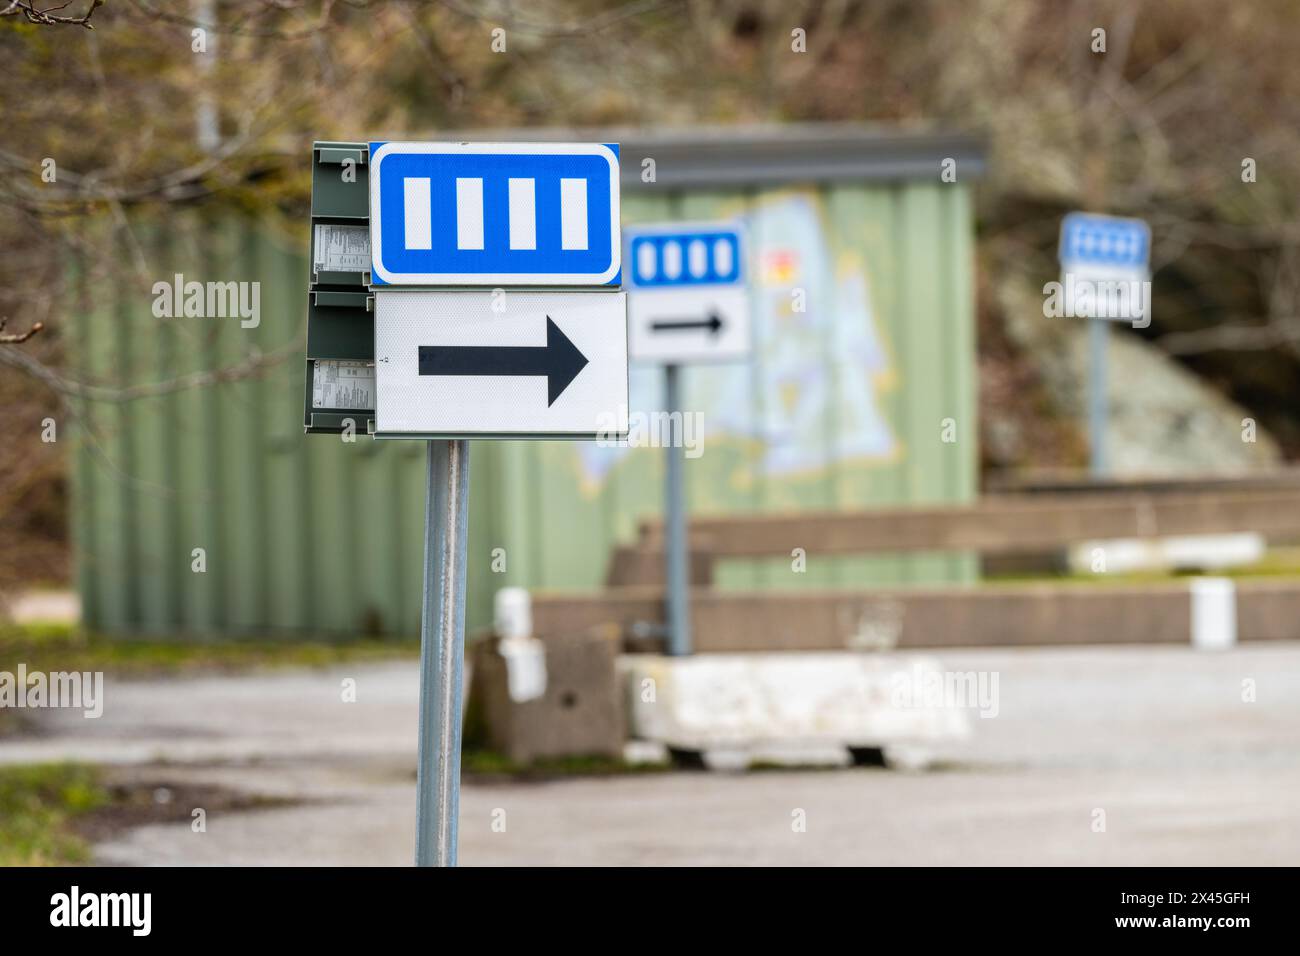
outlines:
{"label": "sharp blue panel with four white bars on the nearest sign", "polygon": [[612,143],[370,143],[376,285],[619,285]]}

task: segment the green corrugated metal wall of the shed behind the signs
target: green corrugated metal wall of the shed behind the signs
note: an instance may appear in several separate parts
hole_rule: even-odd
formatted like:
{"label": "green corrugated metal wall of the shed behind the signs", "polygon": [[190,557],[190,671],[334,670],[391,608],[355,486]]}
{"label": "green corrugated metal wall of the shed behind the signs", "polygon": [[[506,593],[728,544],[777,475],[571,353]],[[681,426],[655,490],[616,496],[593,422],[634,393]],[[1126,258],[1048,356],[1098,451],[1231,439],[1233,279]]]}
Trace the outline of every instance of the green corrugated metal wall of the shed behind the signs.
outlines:
{"label": "green corrugated metal wall of the shed behind the signs", "polygon": [[[686,406],[705,415],[705,453],[686,467],[694,514],[974,497],[970,202],[967,186],[940,182],[625,195],[628,224],[753,217],[758,356],[685,372]],[[139,234],[147,278],[82,282],[75,354],[84,375],[129,386],[229,367],[250,346],[291,354],[260,377],[81,403],[74,532],[87,624],[198,636],[416,633],[422,444],[302,433],[306,225],[170,221]],[[260,325],[155,317],[151,285],[174,273],[260,281]],[[807,308],[786,313],[794,287]],[[633,408],[656,401],[659,375],[633,369]],[[880,423],[862,427],[874,414]],[[941,440],[946,418],[956,442]],[[889,446],[871,447],[881,436]],[[474,442],[471,626],[488,623],[491,594],[507,584],[599,585],[611,544],[659,511],[662,479],[653,447]],[[805,546],[806,574],[792,574],[789,558],[736,562],[722,583],[975,574],[963,555],[819,561],[816,541]],[[494,549],[503,549],[504,572],[493,571]]]}

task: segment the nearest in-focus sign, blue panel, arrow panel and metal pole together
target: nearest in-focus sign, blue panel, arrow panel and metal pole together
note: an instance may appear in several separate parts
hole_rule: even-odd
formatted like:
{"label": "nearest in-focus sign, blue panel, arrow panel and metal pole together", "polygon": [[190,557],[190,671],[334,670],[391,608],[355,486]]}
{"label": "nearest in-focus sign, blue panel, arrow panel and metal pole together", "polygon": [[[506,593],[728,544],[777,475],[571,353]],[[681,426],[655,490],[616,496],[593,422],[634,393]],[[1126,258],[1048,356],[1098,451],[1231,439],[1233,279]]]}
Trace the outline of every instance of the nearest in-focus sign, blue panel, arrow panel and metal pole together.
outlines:
{"label": "nearest in-focus sign, blue panel, arrow panel and metal pole together", "polygon": [[[344,431],[343,416],[358,410],[373,415],[376,438],[426,442],[415,862],[454,866],[469,496],[469,446],[456,436],[589,441],[606,436],[593,408],[627,407],[619,146],[370,140],[312,150],[313,261],[329,261],[313,271],[311,291],[332,302],[309,302],[304,425]],[[335,168],[348,163],[365,168],[364,219],[365,196],[339,183]],[[507,193],[508,203],[495,202]],[[335,235],[348,250],[337,263]],[[722,260],[728,254],[738,261],[732,246]],[[506,286],[510,317],[498,315]],[[373,320],[373,338],[344,334],[334,310]],[[335,388],[330,399],[343,405],[325,406],[324,386],[342,377],[343,362],[373,368],[373,378]]]}

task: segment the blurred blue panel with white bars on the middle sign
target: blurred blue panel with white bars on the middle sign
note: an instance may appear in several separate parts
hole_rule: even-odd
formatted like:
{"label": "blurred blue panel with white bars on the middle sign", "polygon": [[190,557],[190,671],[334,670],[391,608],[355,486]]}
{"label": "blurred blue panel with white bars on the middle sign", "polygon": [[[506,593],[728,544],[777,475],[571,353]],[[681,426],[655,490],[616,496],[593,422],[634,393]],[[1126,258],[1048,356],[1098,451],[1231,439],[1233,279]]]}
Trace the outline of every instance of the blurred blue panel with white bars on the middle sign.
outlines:
{"label": "blurred blue panel with white bars on the middle sign", "polygon": [[628,286],[677,289],[744,281],[737,228],[629,230]]}

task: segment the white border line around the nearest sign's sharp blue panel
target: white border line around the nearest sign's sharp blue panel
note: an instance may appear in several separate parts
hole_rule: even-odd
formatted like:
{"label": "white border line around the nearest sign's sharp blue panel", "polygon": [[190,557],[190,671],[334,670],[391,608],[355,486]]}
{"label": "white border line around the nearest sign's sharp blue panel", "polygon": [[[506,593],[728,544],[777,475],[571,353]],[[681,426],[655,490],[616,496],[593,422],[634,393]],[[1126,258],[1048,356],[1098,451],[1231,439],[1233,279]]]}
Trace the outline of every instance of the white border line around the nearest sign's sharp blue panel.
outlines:
{"label": "white border line around the nearest sign's sharp blue panel", "polygon": [[[610,164],[610,268],[599,274],[564,273],[391,273],[384,268],[380,203],[380,165],[394,153],[512,153],[534,156],[601,156]],[[619,229],[619,157],[604,143],[370,143],[370,268],[381,282],[394,286],[608,286],[623,268]]]}

